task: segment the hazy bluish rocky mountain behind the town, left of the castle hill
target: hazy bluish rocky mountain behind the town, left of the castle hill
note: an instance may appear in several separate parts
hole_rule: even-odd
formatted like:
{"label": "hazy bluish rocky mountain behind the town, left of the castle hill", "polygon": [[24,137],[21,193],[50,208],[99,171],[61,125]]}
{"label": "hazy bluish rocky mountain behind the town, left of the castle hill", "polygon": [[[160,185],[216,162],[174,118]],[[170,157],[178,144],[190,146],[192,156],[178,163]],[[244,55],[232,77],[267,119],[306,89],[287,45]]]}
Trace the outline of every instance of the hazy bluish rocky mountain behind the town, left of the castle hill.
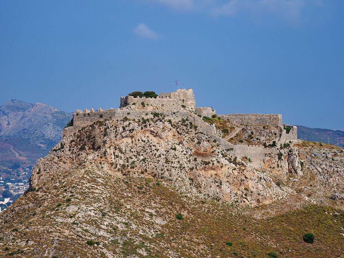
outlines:
{"label": "hazy bluish rocky mountain behind the town, left of the castle hill", "polygon": [[18,165],[34,165],[61,140],[71,118],[72,114],[42,103],[17,99],[4,103],[0,107],[0,174],[10,174]]}

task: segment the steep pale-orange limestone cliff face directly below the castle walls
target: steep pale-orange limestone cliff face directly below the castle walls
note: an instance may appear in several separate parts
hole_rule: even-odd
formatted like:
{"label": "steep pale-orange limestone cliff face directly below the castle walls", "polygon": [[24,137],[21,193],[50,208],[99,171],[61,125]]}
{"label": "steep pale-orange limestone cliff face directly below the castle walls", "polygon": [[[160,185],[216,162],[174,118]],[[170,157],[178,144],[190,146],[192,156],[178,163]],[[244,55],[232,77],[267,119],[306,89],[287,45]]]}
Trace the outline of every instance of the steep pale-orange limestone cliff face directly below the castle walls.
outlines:
{"label": "steep pale-orange limestone cliff face directly below the castle walls", "polygon": [[35,165],[30,189],[77,167],[161,179],[191,197],[247,206],[268,204],[284,194],[269,176],[225,154],[189,121],[151,114],[136,121],[99,121],[63,138]]}

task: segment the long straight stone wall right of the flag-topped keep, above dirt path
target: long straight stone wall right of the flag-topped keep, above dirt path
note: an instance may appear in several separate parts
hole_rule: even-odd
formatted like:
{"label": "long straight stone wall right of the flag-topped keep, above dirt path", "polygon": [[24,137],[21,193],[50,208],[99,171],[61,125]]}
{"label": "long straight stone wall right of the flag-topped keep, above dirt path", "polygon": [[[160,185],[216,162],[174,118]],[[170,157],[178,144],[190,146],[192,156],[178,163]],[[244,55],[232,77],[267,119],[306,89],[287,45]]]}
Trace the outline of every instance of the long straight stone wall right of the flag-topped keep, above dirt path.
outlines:
{"label": "long straight stone wall right of the flag-topped keep, above dirt path", "polygon": [[228,114],[218,116],[223,120],[229,119],[234,125],[268,125],[275,128],[282,126],[282,115],[279,114]]}

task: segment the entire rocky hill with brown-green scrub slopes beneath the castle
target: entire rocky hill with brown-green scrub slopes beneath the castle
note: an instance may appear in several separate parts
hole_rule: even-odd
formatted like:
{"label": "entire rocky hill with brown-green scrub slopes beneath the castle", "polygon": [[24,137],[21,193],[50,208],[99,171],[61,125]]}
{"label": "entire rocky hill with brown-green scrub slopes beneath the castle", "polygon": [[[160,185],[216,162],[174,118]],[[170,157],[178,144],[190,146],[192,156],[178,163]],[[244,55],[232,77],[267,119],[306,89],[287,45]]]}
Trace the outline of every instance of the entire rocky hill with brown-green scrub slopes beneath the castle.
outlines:
{"label": "entire rocky hill with brown-green scrub slopes beneath the castle", "polygon": [[[192,106],[184,113],[125,105],[76,111],[62,141],[34,166],[30,189],[1,214],[0,254],[343,254],[342,148],[282,143],[286,129],[237,125]],[[314,244],[303,241],[307,232]]]}

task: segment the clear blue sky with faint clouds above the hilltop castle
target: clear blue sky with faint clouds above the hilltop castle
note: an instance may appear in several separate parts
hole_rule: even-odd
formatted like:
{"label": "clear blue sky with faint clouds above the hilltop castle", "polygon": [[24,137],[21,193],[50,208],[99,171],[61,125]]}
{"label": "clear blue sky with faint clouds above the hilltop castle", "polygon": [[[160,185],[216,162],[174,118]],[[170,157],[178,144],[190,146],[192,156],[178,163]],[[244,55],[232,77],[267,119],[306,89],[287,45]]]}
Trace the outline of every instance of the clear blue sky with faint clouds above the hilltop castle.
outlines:
{"label": "clear blue sky with faint clouds above the hilltop castle", "polygon": [[194,90],[218,114],[344,130],[344,1],[1,1],[0,105],[117,108]]}

